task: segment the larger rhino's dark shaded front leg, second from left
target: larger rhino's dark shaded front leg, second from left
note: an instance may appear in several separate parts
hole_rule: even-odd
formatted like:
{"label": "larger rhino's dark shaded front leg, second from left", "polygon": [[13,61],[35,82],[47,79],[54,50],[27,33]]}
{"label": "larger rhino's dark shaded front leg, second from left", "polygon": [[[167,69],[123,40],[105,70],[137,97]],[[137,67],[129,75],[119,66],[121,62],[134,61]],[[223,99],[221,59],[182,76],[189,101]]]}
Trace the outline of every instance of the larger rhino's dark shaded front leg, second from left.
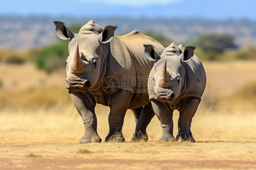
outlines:
{"label": "larger rhino's dark shaded front leg, second from left", "polygon": [[[118,91],[119,92],[119,91]],[[129,93],[115,93],[111,99],[110,113],[108,115],[109,133],[105,141],[117,140],[124,142],[122,128],[125,113],[130,105],[132,95]]]}

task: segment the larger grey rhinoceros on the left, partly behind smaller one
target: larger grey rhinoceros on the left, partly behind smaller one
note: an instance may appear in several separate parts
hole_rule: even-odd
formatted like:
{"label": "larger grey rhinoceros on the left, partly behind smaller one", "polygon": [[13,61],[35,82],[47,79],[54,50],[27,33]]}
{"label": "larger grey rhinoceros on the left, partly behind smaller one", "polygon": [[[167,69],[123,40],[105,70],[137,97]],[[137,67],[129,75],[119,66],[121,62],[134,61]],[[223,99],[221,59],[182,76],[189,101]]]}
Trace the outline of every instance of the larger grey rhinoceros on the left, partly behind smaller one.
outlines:
{"label": "larger grey rhinoceros on the left, partly behind smaller one", "polygon": [[[136,131],[146,135],[146,127],[154,116],[154,111],[151,109],[148,93],[133,90],[147,89],[147,83],[143,82],[144,86],[138,86],[135,82],[128,86],[131,90],[122,91],[122,77],[148,77],[154,62],[144,56],[143,44],[154,45],[158,54],[163,52],[164,47],[138,31],[117,36],[114,34],[116,27],[107,26],[103,30],[93,21],[82,26],[78,34],[72,33],[60,21],[54,23],[58,37],[70,40],[66,80],[68,92],[85,128],[80,143],[101,142],[97,134],[94,110],[96,103],[110,107],[106,141],[116,135],[118,139],[125,141],[122,127],[127,109],[132,109],[136,123],[138,119],[144,120],[137,124]],[[115,79],[109,79],[110,76]],[[136,139],[138,133],[134,134],[133,138]]]}

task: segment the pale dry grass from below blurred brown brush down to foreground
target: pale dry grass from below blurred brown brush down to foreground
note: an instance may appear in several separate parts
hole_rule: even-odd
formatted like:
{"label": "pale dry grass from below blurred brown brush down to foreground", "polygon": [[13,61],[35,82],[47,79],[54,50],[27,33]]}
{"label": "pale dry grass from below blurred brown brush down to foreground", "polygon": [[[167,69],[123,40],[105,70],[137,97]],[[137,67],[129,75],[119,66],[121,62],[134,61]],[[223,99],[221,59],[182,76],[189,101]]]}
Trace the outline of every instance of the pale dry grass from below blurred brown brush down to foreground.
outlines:
{"label": "pale dry grass from below blurred brown brush down to foreground", "polygon": [[[97,110],[101,109],[99,105]],[[97,116],[102,139],[108,134],[107,113],[106,108]],[[196,143],[159,142],[156,117],[148,126],[148,142],[131,142],[135,123],[129,111],[123,127],[125,143],[79,144],[80,116],[75,110],[62,114],[56,110],[1,113],[0,169],[256,168],[256,112],[197,113],[191,127]],[[176,133],[177,119],[174,113]]]}

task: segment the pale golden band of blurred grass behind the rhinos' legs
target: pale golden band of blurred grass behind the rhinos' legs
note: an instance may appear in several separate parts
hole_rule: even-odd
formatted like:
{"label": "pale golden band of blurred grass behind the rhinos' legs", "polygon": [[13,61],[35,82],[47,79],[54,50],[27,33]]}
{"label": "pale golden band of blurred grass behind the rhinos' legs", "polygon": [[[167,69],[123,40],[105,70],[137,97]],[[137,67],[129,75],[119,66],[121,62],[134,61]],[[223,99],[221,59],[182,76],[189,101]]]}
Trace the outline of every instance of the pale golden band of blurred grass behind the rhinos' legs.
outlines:
{"label": "pale golden band of blurred grass behind the rhinos' legs", "polygon": [[[102,110],[103,109],[103,110]],[[108,135],[108,108],[97,105],[98,134],[102,140]],[[102,110],[102,112],[99,112]],[[174,135],[177,134],[179,113],[174,112]],[[78,143],[83,135],[80,115],[71,107],[61,114],[59,110],[2,112],[0,115],[0,141],[2,143],[63,142]],[[256,141],[256,111],[244,113],[215,113],[198,111],[191,131],[196,141]],[[135,130],[133,114],[128,110],[123,135],[131,141]],[[81,132],[82,131],[82,132]],[[148,141],[158,141],[162,131],[156,116],[148,126]],[[77,136],[78,135],[78,136]],[[76,137],[77,136],[77,137]],[[65,143],[65,142],[64,142]],[[115,143],[115,142],[114,142]]]}

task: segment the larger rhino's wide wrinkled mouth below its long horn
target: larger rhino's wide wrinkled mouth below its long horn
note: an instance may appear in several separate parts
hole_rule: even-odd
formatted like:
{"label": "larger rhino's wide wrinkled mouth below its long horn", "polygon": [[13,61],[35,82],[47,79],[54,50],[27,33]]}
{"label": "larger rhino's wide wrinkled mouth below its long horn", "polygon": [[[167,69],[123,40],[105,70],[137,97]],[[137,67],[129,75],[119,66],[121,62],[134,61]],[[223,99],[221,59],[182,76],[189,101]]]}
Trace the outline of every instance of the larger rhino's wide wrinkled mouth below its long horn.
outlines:
{"label": "larger rhino's wide wrinkled mouth below its long horn", "polygon": [[67,77],[66,81],[66,88],[70,91],[87,91],[91,87],[90,80],[87,79]]}

